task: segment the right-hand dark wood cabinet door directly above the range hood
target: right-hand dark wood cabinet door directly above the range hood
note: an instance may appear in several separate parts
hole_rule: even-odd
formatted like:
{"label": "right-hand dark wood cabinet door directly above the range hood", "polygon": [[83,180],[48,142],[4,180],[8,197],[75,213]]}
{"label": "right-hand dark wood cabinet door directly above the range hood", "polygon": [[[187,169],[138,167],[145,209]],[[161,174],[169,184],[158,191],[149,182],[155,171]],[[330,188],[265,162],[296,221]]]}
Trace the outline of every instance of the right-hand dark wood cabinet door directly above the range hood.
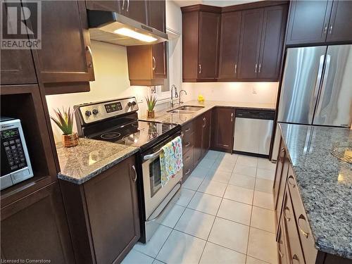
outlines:
{"label": "right-hand dark wood cabinet door directly above the range hood", "polygon": [[166,32],[165,0],[148,1],[148,25]]}

